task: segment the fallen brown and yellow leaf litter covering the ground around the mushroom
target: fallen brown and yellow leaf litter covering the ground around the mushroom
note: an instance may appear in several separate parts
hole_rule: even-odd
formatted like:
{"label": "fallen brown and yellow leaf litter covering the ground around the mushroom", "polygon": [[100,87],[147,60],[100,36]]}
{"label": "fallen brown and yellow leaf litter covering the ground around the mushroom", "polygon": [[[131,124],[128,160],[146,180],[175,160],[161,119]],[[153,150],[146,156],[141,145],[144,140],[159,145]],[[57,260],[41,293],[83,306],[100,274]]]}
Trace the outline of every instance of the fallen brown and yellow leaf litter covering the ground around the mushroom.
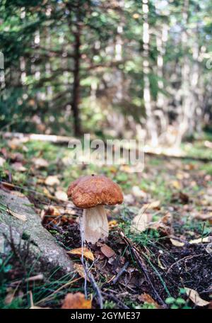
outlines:
{"label": "fallen brown and yellow leaf litter covering the ground around the mushroom", "polygon": [[[20,145],[23,146],[23,143],[11,142],[11,149],[17,149]],[[26,151],[27,148],[23,150]],[[3,157],[7,158],[6,152]],[[63,179],[57,175],[58,173],[51,172],[51,175],[43,176],[42,171],[49,167],[49,161],[45,162],[45,159],[39,157],[32,162],[35,166],[33,177],[37,177],[36,185],[45,197],[37,198],[34,194],[29,194],[30,200],[37,210],[40,210],[42,203],[50,204],[40,210],[43,225],[51,233],[54,231],[54,237],[66,250],[71,249],[68,254],[74,261],[77,275],[81,278],[75,283],[75,288],[80,288],[84,279],[88,280],[88,286],[91,287],[80,262],[82,252],[77,217],[81,214],[81,210],[77,210],[66,200]],[[1,160],[1,164],[4,166],[5,163]],[[15,156],[13,164],[16,172],[25,173],[27,166],[23,157]],[[179,165],[180,163],[177,164],[178,168]],[[141,307],[144,303],[156,308],[165,307],[167,306],[165,299],[169,295],[178,297],[179,288],[184,285],[187,285],[187,290],[183,297],[186,301],[189,298],[189,306],[207,306],[210,301],[208,290],[212,284],[211,231],[206,227],[208,231],[205,232],[204,223],[211,219],[209,193],[205,193],[210,191],[209,187],[205,188],[211,177],[206,173],[199,176],[198,168],[189,164],[181,165],[182,170],[176,170],[175,162],[169,163],[167,164],[169,174],[160,175],[164,176],[171,191],[169,201],[164,202],[161,198],[160,188],[156,192],[138,183],[132,183],[125,194],[124,213],[122,207],[116,208],[114,213],[110,212],[108,241],[95,246],[85,246],[83,250],[84,258],[93,261],[92,273],[95,281],[101,285],[105,300],[115,302],[117,307],[124,308],[123,304],[129,303],[129,300]],[[165,165],[146,166],[145,181],[154,183],[164,168]],[[112,173],[114,179],[117,173],[115,169]],[[126,171],[126,174],[131,173]],[[195,185],[201,189],[192,191]],[[13,183],[7,183],[6,186],[8,189],[16,190]],[[55,205],[51,205],[49,199],[54,200]],[[17,215],[12,210],[9,213],[24,221],[22,215]],[[194,223],[193,227],[187,225],[188,219]],[[131,229],[129,225],[124,227],[129,245],[126,245],[119,235],[119,227],[123,229],[125,221],[131,224]],[[131,252],[134,248],[141,263]],[[151,287],[146,275],[154,288]],[[112,284],[114,280],[117,283]],[[186,284],[188,281],[189,284]],[[61,302],[61,307],[73,308],[70,306],[73,306],[74,302],[76,308],[98,307],[95,299],[91,302],[82,293],[77,297],[76,294],[78,293],[67,294]],[[198,295],[202,298],[199,296],[199,299]]]}

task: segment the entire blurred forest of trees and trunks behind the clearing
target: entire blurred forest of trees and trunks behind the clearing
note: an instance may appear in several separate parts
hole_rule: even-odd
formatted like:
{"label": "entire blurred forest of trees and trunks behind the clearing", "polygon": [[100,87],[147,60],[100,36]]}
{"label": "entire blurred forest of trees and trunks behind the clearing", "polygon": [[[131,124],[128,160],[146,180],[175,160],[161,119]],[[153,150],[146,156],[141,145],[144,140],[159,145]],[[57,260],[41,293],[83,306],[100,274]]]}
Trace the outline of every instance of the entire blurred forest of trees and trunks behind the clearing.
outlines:
{"label": "entire blurred forest of trees and trunks behind the clearing", "polygon": [[212,119],[211,0],[1,0],[4,131],[180,145]]}

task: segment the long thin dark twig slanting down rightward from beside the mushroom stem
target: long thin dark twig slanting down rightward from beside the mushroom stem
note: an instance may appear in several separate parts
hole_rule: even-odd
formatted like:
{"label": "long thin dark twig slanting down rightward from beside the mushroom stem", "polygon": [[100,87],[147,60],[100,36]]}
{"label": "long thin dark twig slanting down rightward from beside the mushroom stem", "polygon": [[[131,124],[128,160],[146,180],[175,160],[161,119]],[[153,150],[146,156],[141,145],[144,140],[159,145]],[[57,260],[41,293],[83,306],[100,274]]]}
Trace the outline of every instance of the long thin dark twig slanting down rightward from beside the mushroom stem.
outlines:
{"label": "long thin dark twig slanting down rightward from beside the mushroom stem", "polygon": [[139,250],[136,248],[136,246],[134,246],[133,242],[131,242],[130,239],[128,239],[127,237],[125,237],[125,235],[124,235],[124,233],[122,231],[119,231],[119,235],[122,237],[122,239],[124,240],[124,242],[129,246],[132,254],[134,254],[134,257],[136,258],[136,261],[139,264],[139,267],[141,268],[141,271],[143,271],[144,276],[148,280],[148,283],[151,285],[151,288],[153,289],[153,292],[155,294],[155,298],[161,304],[163,304],[164,307],[167,307],[167,305],[165,305],[165,302],[163,302],[162,298],[158,294],[157,290],[155,290],[155,288],[153,286],[153,283],[151,282],[151,278],[149,278],[149,276],[148,276],[148,271],[146,270],[145,263],[143,263],[143,259],[141,258],[141,255],[139,253]]}

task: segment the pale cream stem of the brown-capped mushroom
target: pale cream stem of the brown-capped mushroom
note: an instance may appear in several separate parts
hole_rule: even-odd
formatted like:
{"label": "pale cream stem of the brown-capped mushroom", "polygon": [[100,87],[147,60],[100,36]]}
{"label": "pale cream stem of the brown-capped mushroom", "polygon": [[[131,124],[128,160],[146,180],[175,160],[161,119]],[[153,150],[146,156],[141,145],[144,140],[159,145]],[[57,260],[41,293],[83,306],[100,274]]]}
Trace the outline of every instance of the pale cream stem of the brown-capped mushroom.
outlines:
{"label": "pale cream stem of the brown-capped mushroom", "polygon": [[99,239],[106,239],[109,234],[107,215],[103,205],[83,210],[81,236],[84,241],[95,244]]}

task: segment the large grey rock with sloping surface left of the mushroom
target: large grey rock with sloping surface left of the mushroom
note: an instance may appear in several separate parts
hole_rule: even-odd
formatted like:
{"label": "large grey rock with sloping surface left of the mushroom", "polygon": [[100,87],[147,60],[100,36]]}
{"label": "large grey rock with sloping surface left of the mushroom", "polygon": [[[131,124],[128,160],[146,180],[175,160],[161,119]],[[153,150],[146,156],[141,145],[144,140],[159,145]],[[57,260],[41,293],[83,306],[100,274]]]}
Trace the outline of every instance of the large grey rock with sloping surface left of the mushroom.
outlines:
{"label": "large grey rock with sloping surface left of the mushroom", "polygon": [[[21,220],[22,218],[25,220]],[[72,270],[66,251],[42,227],[41,219],[28,198],[0,189],[0,255],[9,251],[8,241],[11,241],[11,234],[15,245],[20,240],[23,243],[25,240],[30,241],[30,257],[32,261],[36,260],[36,268],[42,273],[49,273],[55,268],[59,268],[61,273]]]}

